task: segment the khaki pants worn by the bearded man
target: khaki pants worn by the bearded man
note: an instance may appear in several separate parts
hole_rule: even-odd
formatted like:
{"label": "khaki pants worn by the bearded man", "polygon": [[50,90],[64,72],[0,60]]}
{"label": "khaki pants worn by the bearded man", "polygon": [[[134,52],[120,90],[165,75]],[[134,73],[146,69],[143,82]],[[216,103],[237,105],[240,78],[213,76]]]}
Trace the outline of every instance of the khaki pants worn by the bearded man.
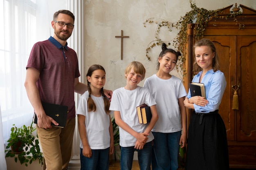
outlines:
{"label": "khaki pants worn by the bearded man", "polygon": [[72,152],[75,118],[67,119],[65,128],[36,130],[45,158],[46,170],[66,170]]}

